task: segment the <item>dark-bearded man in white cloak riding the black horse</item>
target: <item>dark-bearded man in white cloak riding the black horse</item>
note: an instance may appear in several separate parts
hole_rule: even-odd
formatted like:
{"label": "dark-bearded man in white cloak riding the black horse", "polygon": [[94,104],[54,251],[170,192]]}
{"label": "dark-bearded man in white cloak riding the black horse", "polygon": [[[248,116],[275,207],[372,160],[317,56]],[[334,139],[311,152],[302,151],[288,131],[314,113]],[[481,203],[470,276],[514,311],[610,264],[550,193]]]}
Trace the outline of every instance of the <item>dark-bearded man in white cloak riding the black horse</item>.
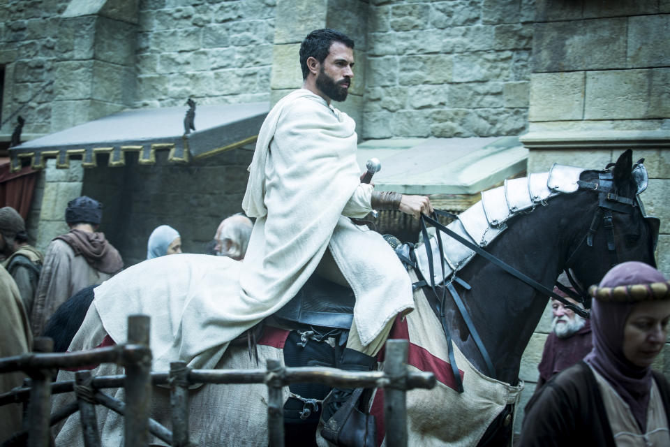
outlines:
{"label": "dark-bearded man in white cloak riding the black horse", "polygon": [[[355,123],[331,105],[348,95],[353,47],[339,31],[312,31],[300,47],[303,87],[282,98],[262,125],[242,204],[256,221],[240,287],[246,302],[278,309],[313,272],[340,277],[356,306],[338,367],[370,370],[395,316],[412,309],[412,286],[382,237],[350,218],[373,209],[419,217],[432,206],[427,197],[360,182]],[[324,402],[322,434],[330,441],[344,425],[331,416],[351,394],[336,389]]]}

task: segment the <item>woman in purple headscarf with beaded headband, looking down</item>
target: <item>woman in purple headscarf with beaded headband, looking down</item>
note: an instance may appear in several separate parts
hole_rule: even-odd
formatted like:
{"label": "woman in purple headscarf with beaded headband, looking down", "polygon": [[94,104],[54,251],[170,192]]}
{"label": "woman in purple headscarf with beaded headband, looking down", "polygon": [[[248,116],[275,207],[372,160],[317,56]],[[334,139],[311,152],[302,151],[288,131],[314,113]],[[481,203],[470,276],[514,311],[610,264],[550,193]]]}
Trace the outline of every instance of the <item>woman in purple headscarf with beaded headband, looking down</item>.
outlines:
{"label": "woman in purple headscarf with beaded headband, looking down", "polygon": [[670,282],[627,262],[589,293],[593,351],[531,398],[519,445],[670,446],[670,386],[651,369],[668,335]]}

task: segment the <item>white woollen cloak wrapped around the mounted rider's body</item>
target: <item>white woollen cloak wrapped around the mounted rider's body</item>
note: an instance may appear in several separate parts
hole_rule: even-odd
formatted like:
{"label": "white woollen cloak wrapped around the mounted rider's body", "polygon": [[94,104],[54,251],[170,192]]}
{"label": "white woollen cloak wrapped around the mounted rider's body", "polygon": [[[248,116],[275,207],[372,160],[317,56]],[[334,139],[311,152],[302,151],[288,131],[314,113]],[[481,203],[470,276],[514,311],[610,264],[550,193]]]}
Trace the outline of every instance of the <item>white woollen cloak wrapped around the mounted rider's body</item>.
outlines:
{"label": "white woollen cloak wrapped around the mounted rider's body", "polygon": [[356,295],[354,320],[366,346],[414,302],[394,251],[349,219],[371,211],[356,150],[354,121],[311,91],[293,91],[272,108],[242,202],[256,221],[239,281],[248,311],[267,316],[295,296],[329,249]]}

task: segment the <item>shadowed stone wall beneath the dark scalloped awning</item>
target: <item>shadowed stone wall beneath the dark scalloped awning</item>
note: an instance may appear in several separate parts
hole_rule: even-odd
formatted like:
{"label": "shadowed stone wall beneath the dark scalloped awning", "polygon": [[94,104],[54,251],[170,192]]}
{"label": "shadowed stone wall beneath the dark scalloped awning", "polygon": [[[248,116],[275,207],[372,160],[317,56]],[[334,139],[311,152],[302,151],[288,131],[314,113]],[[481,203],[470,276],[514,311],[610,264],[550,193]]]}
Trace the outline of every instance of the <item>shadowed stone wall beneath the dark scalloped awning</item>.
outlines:
{"label": "shadowed stone wall beneath the dark scalloped awning", "polygon": [[101,231],[126,267],[146,258],[149,235],[163,224],[179,231],[184,253],[204,253],[221,220],[241,212],[252,156],[253,146],[243,147],[181,166],[157,151],[147,166],[126,154],[124,168],[85,169],[82,193],[103,203]]}

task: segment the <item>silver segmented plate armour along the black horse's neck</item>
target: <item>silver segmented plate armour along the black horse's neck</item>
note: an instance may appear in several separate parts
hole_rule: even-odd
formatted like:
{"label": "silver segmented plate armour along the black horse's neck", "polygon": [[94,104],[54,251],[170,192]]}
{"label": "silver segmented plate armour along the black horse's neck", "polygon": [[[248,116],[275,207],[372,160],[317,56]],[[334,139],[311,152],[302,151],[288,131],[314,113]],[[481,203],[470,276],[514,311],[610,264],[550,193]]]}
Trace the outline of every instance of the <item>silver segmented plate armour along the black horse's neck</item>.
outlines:
{"label": "silver segmented plate armour along the black horse's neck", "polygon": [[[521,214],[529,214],[537,205],[546,205],[547,200],[561,194],[574,193],[579,189],[577,181],[584,173],[604,171],[587,170],[574,166],[554,164],[548,172],[532,173],[528,177],[505,179],[503,186],[482,191],[482,200],[459,214],[447,228],[479,247],[488,246],[507,229],[507,221]],[[436,237],[429,239],[435,284],[442,283],[440,251]],[[468,264],[475,252],[451,237],[442,237],[445,254],[445,278]],[[424,278],[430,277],[428,255],[424,246],[415,248],[417,265]]]}

